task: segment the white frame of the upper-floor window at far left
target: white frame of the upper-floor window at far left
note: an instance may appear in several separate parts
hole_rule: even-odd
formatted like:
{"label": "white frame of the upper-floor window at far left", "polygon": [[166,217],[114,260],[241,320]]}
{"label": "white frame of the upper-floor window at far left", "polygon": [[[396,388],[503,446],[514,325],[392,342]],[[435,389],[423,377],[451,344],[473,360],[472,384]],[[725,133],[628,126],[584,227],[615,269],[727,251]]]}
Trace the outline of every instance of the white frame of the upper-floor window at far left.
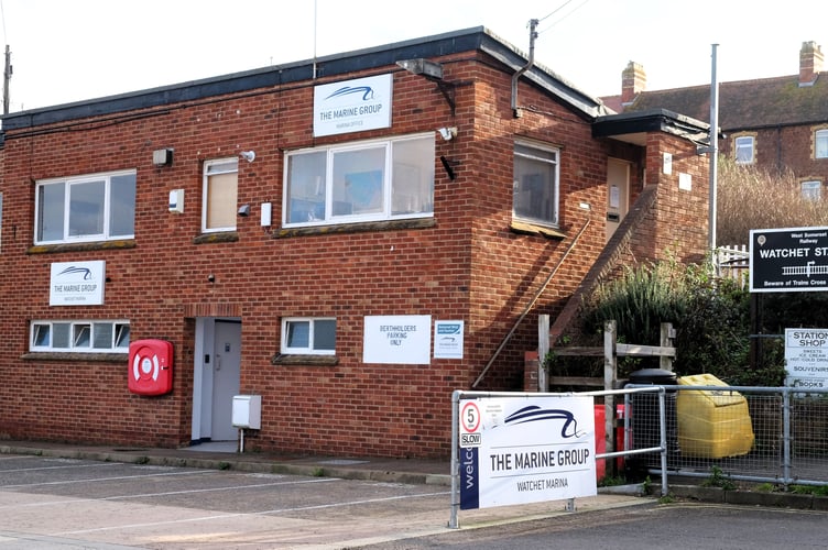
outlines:
{"label": "white frame of the upper-floor window at far left", "polygon": [[[118,233],[112,234],[113,228],[111,228],[111,220],[113,218],[113,199],[112,199],[112,179],[116,177],[123,177],[123,176],[132,176],[133,182],[133,190],[138,187],[137,182],[137,170],[120,170],[120,172],[108,172],[108,173],[100,173],[100,174],[87,174],[83,176],[73,176],[67,178],[51,178],[51,179],[43,179],[41,182],[37,182],[36,188],[35,188],[35,212],[34,212],[34,243],[35,244],[59,244],[59,243],[70,243],[70,242],[95,242],[95,241],[112,241],[112,240],[120,240],[120,239],[133,239],[134,238],[134,220],[135,220],[135,196],[132,196],[132,232],[131,233]],[[101,220],[101,227],[100,230],[97,231],[88,231],[80,234],[72,235],[70,233],[70,222],[73,220],[77,221],[80,219],[77,215],[75,217],[72,216],[70,209],[72,209],[72,190],[73,188],[77,189],[76,186],[81,186],[85,184],[92,184],[92,183],[102,183],[103,184],[103,200],[102,200],[102,211],[100,212],[100,216],[102,217]],[[63,189],[61,189],[57,186],[63,186]],[[42,191],[45,191],[46,188],[53,187],[56,191],[63,190],[63,228],[62,228],[62,235],[58,239],[40,239],[39,235],[42,233],[42,227],[41,222],[43,221],[43,218],[51,217],[53,212],[44,212],[44,205],[42,202]],[[115,217],[118,219],[121,219],[123,215],[120,212],[115,213]]]}

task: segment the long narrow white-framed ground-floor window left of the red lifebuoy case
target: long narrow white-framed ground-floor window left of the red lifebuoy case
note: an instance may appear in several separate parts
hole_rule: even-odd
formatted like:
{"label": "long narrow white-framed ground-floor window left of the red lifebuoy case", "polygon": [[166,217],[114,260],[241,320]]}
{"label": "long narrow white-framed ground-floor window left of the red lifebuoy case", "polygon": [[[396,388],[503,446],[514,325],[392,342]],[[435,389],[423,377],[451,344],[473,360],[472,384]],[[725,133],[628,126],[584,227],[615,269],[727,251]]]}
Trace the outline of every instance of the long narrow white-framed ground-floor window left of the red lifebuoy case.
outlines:
{"label": "long narrow white-framed ground-floor window left of the red lifebuoy case", "polygon": [[129,321],[32,321],[30,351],[127,353]]}

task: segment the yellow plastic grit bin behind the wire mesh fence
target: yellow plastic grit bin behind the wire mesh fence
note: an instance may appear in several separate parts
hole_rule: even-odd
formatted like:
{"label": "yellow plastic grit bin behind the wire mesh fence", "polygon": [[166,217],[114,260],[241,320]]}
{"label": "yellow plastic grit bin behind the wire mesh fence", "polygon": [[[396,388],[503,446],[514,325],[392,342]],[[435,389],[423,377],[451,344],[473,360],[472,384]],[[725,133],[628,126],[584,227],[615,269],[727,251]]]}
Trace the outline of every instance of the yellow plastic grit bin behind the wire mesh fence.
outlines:
{"label": "yellow plastic grit bin behind the wire mesh fence", "polygon": [[[679,386],[727,386],[712,374],[678,378]],[[683,457],[721,459],[748,454],[753,447],[753,426],[748,399],[739,392],[679,391],[676,396],[678,448]]]}

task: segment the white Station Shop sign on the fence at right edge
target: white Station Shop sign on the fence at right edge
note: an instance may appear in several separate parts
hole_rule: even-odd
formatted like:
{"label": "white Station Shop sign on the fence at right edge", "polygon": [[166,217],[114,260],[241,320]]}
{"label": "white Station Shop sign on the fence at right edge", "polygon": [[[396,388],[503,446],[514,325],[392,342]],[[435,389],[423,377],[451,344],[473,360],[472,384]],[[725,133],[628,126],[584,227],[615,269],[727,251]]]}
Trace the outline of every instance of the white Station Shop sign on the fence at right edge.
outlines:
{"label": "white Station Shop sign on the fence at right edge", "polygon": [[785,385],[828,388],[828,329],[785,329]]}

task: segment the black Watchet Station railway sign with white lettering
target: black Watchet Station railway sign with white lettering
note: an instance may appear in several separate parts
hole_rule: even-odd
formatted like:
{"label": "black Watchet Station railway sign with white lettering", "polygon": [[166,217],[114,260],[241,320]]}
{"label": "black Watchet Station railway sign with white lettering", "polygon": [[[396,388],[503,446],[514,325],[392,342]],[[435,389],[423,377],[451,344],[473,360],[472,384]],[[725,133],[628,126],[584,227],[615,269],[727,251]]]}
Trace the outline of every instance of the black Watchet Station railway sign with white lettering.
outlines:
{"label": "black Watchet Station railway sign with white lettering", "polygon": [[752,293],[828,290],[828,228],[750,232]]}

